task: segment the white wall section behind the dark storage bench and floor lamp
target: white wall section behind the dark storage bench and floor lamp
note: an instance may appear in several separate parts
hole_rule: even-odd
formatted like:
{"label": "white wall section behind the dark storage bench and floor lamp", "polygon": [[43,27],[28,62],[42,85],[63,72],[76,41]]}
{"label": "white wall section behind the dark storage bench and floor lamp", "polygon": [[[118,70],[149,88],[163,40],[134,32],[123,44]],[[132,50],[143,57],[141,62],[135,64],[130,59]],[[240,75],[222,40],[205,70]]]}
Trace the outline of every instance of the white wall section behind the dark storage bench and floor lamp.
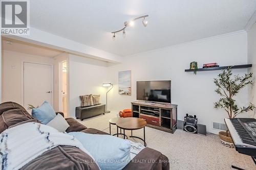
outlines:
{"label": "white wall section behind the dark storage bench and floor lamp", "polygon": [[75,108],[80,106],[79,95],[100,94],[101,103],[105,103],[106,89],[102,87],[102,83],[107,80],[106,66],[104,61],[70,54],[68,59],[69,117],[75,117]]}

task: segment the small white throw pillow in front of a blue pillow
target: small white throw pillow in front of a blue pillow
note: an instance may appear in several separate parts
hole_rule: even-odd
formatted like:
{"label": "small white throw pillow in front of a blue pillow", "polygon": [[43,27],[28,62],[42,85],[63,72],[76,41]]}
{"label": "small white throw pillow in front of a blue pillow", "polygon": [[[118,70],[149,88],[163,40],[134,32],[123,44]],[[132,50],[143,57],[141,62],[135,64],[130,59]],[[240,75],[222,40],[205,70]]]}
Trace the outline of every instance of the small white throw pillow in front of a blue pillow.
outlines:
{"label": "small white throw pillow in front of a blue pillow", "polygon": [[67,123],[65,118],[61,116],[61,114],[57,114],[57,116],[55,116],[46,125],[57,129],[59,132],[65,132],[68,129],[68,127],[69,127],[69,124]]}

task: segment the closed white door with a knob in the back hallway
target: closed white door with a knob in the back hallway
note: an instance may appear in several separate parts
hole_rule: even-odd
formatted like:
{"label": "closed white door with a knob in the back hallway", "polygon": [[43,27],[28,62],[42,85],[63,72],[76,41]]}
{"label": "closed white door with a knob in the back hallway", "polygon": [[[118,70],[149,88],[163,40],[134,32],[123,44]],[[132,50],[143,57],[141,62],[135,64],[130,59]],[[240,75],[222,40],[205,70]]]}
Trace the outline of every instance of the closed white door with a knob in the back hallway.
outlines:
{"label": "closed white door with a knob in the back hallway", "polygon": [[24,107],[52,105],[52,66],[24,62]]}

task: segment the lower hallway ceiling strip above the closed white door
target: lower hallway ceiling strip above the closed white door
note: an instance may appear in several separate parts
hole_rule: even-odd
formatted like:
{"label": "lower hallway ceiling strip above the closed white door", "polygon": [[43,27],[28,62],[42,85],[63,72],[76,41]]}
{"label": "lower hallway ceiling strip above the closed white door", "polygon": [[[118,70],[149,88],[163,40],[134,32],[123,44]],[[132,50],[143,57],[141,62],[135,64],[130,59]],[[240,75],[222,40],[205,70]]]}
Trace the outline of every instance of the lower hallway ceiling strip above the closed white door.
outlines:
{"label": "lower hallway ceiling strip above the closed white door", "polygon": [[[8,44],[7,41],[11,41],[12,44]],[[18,53],[24,53],[33,56],[41,56],[41,57],[55,57],[61,53],[62,51],[54,50],[52,48],[47,48],[23,41],[17,41],[9,38],[2,37],[2,49],[14,51]]]}

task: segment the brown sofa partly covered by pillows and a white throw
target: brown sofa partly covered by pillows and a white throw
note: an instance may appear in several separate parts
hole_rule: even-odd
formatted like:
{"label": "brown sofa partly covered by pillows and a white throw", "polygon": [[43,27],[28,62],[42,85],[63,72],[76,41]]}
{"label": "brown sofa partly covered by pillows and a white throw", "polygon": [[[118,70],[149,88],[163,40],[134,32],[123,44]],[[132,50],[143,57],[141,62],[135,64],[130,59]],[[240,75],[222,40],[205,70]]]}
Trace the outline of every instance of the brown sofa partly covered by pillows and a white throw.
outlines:
{"label": "brown sofa partly covered by pillows and a white throw", "polygon": [[[61,112],[57,112],[63,115]],[[97,129],[87,128],[74,118],[66,118],[70,127],[66,132],[108,134]],[[0,104],[0,133],[5,129],[28,122],[37,122],[22,106],[14,102]],[[87,161],[79,161],[87,160]],[[98,169],[92,158],[78,148],[58,146],[38,156],[21,169]],[[169,169],[168,158],[160,152],[145,148],[134,157],[124,169]]]}

